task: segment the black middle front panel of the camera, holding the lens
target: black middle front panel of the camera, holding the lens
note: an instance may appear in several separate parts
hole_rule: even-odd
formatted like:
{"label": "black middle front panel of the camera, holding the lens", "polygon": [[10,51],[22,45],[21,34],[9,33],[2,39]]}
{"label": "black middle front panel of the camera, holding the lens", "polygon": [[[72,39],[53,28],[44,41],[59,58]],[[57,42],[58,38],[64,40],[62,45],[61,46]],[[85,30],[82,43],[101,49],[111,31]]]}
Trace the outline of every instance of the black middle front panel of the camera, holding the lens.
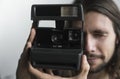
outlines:
{"label": "black middle front panel of the camera, holding the lens", "polygon": [[38,48],[81,48],[81,29],[37,28],[34,47]]}

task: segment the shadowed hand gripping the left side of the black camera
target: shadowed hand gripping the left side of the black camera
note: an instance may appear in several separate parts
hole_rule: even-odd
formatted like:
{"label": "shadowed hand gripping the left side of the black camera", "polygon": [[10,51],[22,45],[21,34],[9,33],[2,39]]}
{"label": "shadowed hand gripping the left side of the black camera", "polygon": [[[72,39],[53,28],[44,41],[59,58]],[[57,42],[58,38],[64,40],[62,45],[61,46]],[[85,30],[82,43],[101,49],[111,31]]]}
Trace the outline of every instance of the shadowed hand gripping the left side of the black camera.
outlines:
{"label": "shadowed hand gripping the left side of the black camera", "polygon": [[29,38],[26,42],[26,45],[24,47],[23,53],[21,54],[21,58],[18,62],[18,67],[16,71],[16,79],[34,79],[31,76],[31,73],[29,72],[29,48],[32,46],[33,39],[35,37],[35,29],[32,28]]}

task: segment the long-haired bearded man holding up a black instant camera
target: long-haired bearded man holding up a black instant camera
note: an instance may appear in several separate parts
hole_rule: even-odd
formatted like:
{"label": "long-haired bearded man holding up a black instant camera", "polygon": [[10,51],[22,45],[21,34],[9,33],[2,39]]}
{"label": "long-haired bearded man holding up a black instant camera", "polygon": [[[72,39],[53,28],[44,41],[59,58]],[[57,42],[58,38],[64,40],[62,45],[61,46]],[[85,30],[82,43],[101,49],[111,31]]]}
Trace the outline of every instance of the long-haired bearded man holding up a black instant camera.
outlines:
{"label": "long-haired bearded man holding up a black instant camera", "polygon": [[[28,48],[35,37],[32,28],[18,64],[17,79],[120,79],[120,12],[112,0],[86,0],[83,5],[85,52],[79,73],[73,76],[71,71],[71,77],[64,77],[64,71],[55,75],[52,70],[33,68],[28,59]],[[73,22],[81,28],[79,23]]]}

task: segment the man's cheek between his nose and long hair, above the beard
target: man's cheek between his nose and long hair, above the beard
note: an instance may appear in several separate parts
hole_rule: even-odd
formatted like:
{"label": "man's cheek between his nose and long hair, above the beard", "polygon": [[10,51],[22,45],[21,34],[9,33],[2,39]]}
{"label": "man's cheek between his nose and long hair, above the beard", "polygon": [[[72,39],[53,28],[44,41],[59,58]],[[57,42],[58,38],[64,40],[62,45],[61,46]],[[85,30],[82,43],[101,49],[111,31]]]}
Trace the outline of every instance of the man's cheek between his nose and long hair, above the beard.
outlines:
{"label": "man's cheek between his nose and long hair, above the beard", "polygon": [[98,50],[99,52],[105,57],[104,61],[108,62],[115,49],[115,41],[114,39],[106,39],[102,40],[101,42],[98,43]]}

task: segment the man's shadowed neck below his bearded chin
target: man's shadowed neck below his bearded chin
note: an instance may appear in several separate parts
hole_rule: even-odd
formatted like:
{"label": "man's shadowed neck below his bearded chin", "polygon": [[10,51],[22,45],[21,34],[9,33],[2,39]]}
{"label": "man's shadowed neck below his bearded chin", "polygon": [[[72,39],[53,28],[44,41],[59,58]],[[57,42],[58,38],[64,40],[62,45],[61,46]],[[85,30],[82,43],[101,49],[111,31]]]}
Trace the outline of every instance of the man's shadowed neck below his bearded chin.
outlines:
{"label": "man's shadowed neck below his bearded chin", "polygon": [[109,74],[103,70],[97,73],[90,73],[88,79],[110,79]]}

